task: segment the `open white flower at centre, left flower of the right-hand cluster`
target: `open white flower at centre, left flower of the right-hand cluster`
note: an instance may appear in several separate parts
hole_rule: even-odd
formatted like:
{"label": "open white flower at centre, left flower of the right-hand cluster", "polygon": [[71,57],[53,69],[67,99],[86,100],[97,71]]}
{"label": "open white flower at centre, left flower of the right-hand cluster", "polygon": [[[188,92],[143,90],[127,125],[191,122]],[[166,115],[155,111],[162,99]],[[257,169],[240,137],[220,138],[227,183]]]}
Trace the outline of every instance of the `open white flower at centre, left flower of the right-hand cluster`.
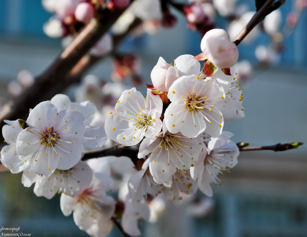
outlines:
{"label": "open white flower at centre, left flower of the right-hand cluster", "polygon": [[142,138],[155,137],[162,128],[162,100],[147,90],[146,98],[135,88],[122,92],[115,111],[105,122],[109,138],[125,146],[138,144]]}

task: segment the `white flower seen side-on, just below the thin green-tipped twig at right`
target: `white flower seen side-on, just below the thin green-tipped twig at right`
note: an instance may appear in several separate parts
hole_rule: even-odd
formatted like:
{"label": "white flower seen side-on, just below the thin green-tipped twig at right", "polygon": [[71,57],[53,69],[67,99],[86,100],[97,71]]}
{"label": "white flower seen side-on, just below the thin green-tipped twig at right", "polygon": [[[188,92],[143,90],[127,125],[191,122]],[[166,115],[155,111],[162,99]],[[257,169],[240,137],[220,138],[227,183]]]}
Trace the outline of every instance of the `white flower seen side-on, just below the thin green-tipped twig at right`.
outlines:
{"label": "white flower seen side-on, just below the thin green-tipped twig at right", "polygon": [[200,153],[198,162],[193,163],[190,172],[191,177],[197,181],[199,189],[206,195],[212,196],[211,183],[221,185],[223,181],[219,174],[230,171],[238,163],[239,148],[229,140],[232,133],[224,131],[220,137],[211,138],[208,142],[208,152]]}

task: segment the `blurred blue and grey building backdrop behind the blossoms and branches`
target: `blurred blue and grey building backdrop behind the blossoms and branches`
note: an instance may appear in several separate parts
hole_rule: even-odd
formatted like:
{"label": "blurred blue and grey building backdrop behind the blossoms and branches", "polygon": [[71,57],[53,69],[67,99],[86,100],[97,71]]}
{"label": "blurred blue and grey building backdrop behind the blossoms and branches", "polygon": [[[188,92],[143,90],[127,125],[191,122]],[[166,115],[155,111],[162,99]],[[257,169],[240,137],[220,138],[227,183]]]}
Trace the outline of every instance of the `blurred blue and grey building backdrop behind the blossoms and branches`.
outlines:
{"label": "blurred blue and grey building backdrop behind the blossoms and branches", "polygon": [[[253,1],[238,4],[255,11]],[[294,4],[295,1],[287,0],[280,8],[282,25]],[[122,54],[138,55],[139,75],[144,82],[137,89],[143,94],[145,83],[151,84],[150,72],[159,56],[171,62],[182,54],[201,52],[201,35],[187,29],[184,15],[174,9],[171,12],[177,17],[173,28],[127,37],[118,49]],[[11,98],[8,85],[21,70],[37,76],[62,52],[61,40],[51,39],[43,32],[43,24],[51,15],[39,0],[0,1],[1,104]],[[223,17],[216,16],[215,22],[218,28],[227,30]],[[274,62],[259,62],[255,55],[258,45],[270,44],[270,37],[262,31],[254,41],[239,45],[239,61],[248,60],[253,69],[250,76],[241,80],[245,117],[224,126],[224,130],[235,134],[234,142],[249,142],[251,146],[306,142],[306,22],[307,13],[303,11]],[[111,82],[111,65],[112,59],[107,58],[87,74]],[[123,83],[134,86],[130,81]],[[18,90],[15,86],[11,85],[10,90]],[[73,85],[65,93],[73,99],[77,89]],[[306,152],[305,145],[278,153],[242,152],[238,165],[223,177],[223,184],[213,187],[212,198],[197,192],[194,204],[168,204],[156,223],[142,222],[142,236],[307,236]],[[63,216],[59,199],[60,195],[52,200],[37,197],[33,186],[25,188],[21,184],[21,174],[1,172],[0,227],[20,226],[21,232],[40,237],[88,236],[76,227],[72,216]],[[204,210],[198,213],[195,207]],[[110,234],[121,235],[116,228]]]}

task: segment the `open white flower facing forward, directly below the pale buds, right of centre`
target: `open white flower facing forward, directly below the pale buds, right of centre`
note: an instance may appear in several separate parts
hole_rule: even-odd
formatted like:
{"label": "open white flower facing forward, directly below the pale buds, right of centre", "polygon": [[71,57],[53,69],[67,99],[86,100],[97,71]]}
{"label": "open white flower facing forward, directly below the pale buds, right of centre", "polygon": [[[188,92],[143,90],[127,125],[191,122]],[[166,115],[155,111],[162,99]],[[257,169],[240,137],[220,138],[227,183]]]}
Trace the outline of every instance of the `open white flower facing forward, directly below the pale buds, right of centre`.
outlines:
{"label": "open white flower facing forward, directly below the pale buds, right of centre", "polygon": [[187,137],[196,137],[203,131],[213,137],[221,134],[224,120],[215,103],[225,99],[225,93],[215,79],[182,76],[169,87],[167,96],[172,101],[164,114],[169,132]]}

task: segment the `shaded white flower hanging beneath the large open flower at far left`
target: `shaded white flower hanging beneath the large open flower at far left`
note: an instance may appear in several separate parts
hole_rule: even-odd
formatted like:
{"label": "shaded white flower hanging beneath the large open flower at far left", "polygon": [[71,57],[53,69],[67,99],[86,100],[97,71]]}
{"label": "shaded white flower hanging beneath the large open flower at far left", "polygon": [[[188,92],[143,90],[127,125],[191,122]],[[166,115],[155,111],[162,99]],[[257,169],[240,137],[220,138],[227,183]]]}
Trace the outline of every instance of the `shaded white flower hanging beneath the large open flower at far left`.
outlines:
{"label": "shaded white flower hanging beneath the large open flower at far left", "polygon": [[67,170],[56,169],[49,176],[40,176],[29,166],[23,171],[21,183],[30,187],[33,183],[36,196],[51,199],[56,193],[63,192],[69,196],[77,196],[82,189],[88,188],[92,179],[92,170],[83,161]]}

